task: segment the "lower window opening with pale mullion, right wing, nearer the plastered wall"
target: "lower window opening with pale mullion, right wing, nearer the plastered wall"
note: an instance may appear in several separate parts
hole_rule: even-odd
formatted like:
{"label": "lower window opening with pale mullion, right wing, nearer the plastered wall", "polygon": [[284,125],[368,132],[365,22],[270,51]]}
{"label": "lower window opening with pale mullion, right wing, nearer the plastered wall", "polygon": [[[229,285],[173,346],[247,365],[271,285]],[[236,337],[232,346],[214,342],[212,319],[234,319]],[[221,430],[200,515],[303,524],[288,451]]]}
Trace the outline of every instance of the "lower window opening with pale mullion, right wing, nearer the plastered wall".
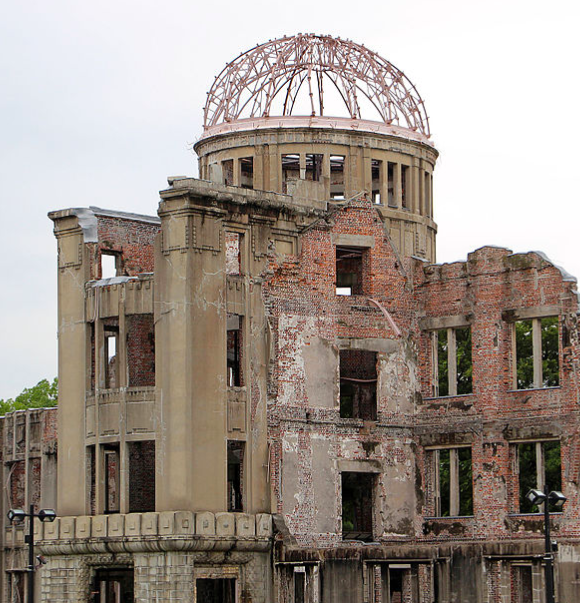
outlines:
{"label": "lower window opening with pale mullion, right wing, nearer the plastered wall", "polygon": [[462,517],[473,515],[473,472],[471,448],[434,451],[435,515]]}

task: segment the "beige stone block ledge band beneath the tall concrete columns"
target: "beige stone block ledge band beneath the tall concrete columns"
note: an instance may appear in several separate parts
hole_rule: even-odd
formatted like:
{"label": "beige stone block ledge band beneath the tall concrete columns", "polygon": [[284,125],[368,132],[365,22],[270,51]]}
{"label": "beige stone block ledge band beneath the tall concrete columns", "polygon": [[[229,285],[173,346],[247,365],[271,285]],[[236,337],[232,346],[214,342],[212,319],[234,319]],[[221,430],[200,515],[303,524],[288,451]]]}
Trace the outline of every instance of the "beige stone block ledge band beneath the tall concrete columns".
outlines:
{"label": "beige stone block ledge band beneath the tall concrete columns", "polygon": [[[167,511],[58,517],[35,522],[35,541],[44,555],[155,551],[266,551],[272,516],[267,513]],[[22,532],[22,534],[20,534]],[[12,528],[7,546],[18,546],[23,531]]]}

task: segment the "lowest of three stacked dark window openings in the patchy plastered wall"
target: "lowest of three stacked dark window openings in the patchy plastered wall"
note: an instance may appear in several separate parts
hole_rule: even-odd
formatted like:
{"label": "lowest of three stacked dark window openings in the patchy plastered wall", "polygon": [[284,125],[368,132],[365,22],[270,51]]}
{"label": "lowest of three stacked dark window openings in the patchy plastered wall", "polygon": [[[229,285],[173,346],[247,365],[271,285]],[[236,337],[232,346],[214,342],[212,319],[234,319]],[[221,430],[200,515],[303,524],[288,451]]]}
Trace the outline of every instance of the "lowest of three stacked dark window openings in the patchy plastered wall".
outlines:
{"label": "lowest of three stacked dark window openings in the patchy plastered wall", "polygon": [[342,473],[343,540],[372,540],[374,483],[372,473]]}

